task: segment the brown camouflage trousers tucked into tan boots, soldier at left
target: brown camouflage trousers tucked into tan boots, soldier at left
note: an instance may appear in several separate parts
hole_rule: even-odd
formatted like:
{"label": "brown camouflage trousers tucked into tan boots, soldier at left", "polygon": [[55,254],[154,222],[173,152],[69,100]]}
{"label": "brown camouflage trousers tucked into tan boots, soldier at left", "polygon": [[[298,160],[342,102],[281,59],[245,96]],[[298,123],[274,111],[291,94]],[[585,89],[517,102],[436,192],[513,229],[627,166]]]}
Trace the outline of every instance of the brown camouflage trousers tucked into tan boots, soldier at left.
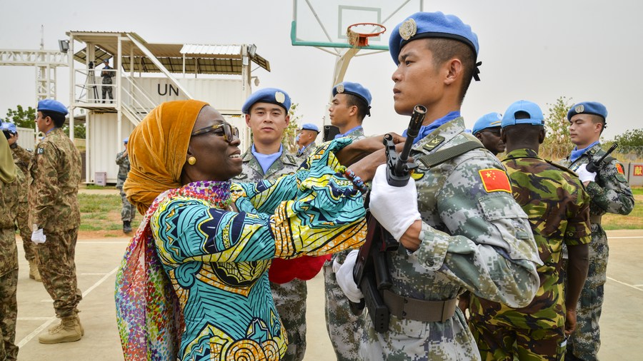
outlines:
{"label": "brown camouflage trousers tucked into tan boots, soldier at left", "polygon": [[45,290],[54,300],[57,317],[74,315],[82,296],[77,292],[76,238],[78,228],[59,233],[45,231],[46,242],[36,245],[38,270]]}

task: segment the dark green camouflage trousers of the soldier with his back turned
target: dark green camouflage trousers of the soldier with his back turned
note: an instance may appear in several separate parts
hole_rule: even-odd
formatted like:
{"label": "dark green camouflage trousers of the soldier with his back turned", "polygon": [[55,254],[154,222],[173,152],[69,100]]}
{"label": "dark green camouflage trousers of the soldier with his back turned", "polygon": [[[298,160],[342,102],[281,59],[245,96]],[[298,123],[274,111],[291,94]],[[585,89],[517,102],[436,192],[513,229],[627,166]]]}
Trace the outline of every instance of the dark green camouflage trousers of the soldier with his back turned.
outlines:
{"label": "dark green camouflage trousers of the soldier with his back turned", "polygon": [[563,327],[529,330],[477,320],[471,320],[469,326],[483,361],[564,360]]}

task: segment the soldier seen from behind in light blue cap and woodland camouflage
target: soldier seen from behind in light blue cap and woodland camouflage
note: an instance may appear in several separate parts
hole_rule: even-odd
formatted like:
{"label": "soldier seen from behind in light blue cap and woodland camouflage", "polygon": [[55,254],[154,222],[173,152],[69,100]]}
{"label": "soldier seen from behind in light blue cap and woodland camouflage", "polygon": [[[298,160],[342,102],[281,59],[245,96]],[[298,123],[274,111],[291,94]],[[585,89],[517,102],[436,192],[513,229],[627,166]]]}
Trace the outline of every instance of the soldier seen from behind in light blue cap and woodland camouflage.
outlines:
{"label": "soldier seen from behind in light blue cap and woodland camouflage", "polygon": [[[540,288],[522,308],[473,296],[469,326],[482,360],[562,360],[587,277],[589,195],[576,173],[538,156],[545,131],[537,104],[517,101],[509,106],[501,138],[514,198],[529,216],[544,263],[538,268]],[[566,291],[559,273],[564,244],[569,251]]]}

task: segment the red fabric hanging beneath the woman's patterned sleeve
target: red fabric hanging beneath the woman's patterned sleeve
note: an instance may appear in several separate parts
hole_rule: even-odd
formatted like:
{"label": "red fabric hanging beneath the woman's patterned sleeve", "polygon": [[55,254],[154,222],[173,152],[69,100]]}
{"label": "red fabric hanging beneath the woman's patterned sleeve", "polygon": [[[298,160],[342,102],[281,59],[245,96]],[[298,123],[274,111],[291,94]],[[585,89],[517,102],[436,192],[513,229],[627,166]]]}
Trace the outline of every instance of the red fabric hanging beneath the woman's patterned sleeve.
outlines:
{"label": "red fabric hanging beneath the woman's patterned sleeve", "polygon": [[319,273],[321,266],[330,258],[331,255],[318,257],[304,255],[290,260],[275,258],[268,270],[268,279],[274,283],[288,283],[295,278],[310,280]]}

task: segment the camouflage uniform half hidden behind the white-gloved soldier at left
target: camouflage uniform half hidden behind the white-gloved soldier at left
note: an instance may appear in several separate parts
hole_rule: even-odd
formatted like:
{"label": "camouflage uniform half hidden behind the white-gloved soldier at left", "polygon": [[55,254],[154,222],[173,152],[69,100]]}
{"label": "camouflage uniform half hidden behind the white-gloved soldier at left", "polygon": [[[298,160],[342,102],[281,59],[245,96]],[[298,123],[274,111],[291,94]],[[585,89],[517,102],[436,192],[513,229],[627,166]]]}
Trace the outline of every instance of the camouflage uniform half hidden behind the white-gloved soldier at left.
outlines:
{"label": "camouflage uniform half hidden behind the white-gloved soldier at left", "polygon": [[20,200],[18,202],[18,215],[16,216],[16,224],[20,230],[20,237],[22,238],[22,248],[24,248],[24,258],[29,262],[36,260],[36,245],[31,242],[31,225],[29,225],[29,164],[31,159],[34,158],[34,153],[31,149],[25,149],[21,146],[15,145],[11,148],[11,153],[14,156],[14,163],[20,168],[20,171],[25,175],[24,180],[20,186]]}

